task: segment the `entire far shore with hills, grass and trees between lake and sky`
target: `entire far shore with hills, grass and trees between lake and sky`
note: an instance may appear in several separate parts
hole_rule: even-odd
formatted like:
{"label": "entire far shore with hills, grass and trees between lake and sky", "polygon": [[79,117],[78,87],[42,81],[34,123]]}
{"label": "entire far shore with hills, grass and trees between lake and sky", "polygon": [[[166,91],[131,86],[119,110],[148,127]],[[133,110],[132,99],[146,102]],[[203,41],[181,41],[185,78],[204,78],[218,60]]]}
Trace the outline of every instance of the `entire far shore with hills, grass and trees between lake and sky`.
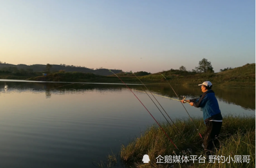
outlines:
{"label": "entire far shore with hills, grass and trees between lake and sky", "polygon": [[[21,66],[22,65],[22,66]],[[25,67],[24,64],[17,65]],[[27,66],[27,65],[26,65]],[[101,83],[121,83],[115,75],[109,70],[99,68],[97,70],[86,67],[76,67],[70,65],[30,65],[27,69],[15,66],[3,66],[0,64],[0,79],[18,79],[29,81],[66,81],[66,82],[101,82]],[[61,69],[62,68],[62,69]],[[61,69],[61,70],[59,70]],[[40,72],[34,70],[43,70]],[[78,70],[78,71],[72,71]],[[137,83],[140,81],[129,72],[122,70],[112,70],[126,83]],[[255,64],[246,64],[241,67],[227,67],[214,73],[211,62],[203,58],[192,71],[186,70],[181,66],[179,70],[166,70],[159,73],[151,74],[149,72],[135,72],[141,81],[145,84],[166,85],[164,77],[171,84],[177,85],[196,85],[203,81],[211,81],[214,87],[247,87],[255,88]],[[43,75],[47,74],[47,75]]]}

